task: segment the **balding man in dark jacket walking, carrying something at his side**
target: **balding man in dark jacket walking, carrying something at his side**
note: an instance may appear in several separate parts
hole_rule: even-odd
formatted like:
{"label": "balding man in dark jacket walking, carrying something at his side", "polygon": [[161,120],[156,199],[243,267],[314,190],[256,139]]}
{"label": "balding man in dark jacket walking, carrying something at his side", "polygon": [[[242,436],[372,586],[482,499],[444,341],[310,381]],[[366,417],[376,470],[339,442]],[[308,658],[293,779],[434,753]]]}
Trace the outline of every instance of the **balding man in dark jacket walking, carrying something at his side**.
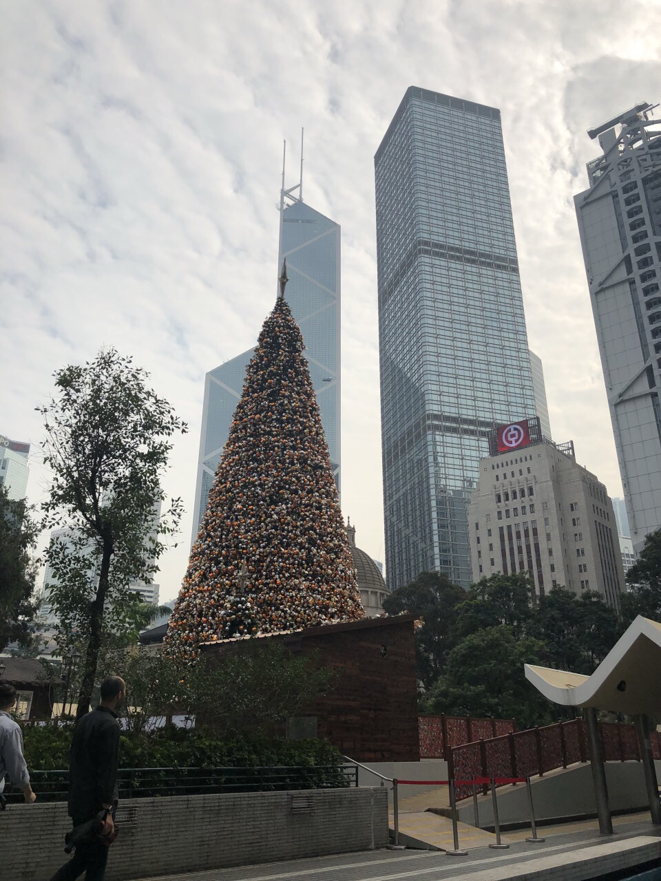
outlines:
{"label": "balding man in dark jacket walking, carrying something at his side", "polygon": [[[116,710],[122,705],[126,685],[118,676],[101,683],[101,702],[76,723],[69,766],[69,816],[74,828],[108,811],[112,830],[117,804],[119,735]],[[51,881],[74,881],[85,872],[85,881],[103,881],[108,846],[101,840],[78,844],[73,858],[56,871]]]}

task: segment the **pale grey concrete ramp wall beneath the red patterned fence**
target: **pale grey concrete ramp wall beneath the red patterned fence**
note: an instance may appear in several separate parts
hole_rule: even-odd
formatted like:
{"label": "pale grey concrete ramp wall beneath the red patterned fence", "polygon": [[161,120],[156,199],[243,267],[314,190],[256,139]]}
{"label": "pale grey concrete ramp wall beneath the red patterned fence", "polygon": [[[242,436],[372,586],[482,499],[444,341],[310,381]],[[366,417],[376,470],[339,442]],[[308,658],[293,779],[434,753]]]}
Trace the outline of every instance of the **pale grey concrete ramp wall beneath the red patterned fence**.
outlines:
{"label": "pale grey concrete ramp wall beneath the red patterned fence", "polygon": [[[661,777],[661,762],[657,777]],[[606,762],[606,784],[611,811],[647,810],[647,790],[641,762]],[[564,817],[583,817],[597,814],[597,801],[592,785],[590,764],[575,765],[567,771],[556,771],[544,777],[533,777],[532,800],[535,818],[550,820]],[[498,818],[502,825],[527,823],[530,820],[524,783],[497,790]],[[479,796],[479,825],[494,825],[492,798]],[[472,799],[458,805],[458,818],[474,824]]]}

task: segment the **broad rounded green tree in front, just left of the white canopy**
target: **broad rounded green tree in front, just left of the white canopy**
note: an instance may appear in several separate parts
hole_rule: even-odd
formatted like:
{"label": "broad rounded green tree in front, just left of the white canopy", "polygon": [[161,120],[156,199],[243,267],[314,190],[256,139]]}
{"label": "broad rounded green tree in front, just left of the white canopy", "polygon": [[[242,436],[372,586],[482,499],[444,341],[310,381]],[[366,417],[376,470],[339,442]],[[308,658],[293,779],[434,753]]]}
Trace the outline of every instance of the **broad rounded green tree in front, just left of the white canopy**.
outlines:
{"label": "broad rounded green tree in front, just left of the white canopy", "polygon": [[545,656],[544,643],[517,638],[509,626],[470,633],[449,653],[427,712],[513,718],[523,727],[550,722],[551,705],[524,673],[525,663],[538,664]]}

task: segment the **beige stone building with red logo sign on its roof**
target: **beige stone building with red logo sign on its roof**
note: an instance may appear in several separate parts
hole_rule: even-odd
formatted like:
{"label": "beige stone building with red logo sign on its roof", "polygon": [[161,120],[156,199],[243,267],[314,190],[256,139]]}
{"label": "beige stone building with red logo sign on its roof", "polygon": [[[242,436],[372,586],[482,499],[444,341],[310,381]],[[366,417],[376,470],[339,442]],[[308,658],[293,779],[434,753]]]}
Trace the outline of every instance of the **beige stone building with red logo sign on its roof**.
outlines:
{"label": "beige stone building with red logo sign on its roof", "polygon": [[605,485],[576,463],[571,441],[534,434],[507,451],[492,443],[479,463],[468,512],[473,580],[528,573],[537,596],[597,590],[617,610],[624,570]]}

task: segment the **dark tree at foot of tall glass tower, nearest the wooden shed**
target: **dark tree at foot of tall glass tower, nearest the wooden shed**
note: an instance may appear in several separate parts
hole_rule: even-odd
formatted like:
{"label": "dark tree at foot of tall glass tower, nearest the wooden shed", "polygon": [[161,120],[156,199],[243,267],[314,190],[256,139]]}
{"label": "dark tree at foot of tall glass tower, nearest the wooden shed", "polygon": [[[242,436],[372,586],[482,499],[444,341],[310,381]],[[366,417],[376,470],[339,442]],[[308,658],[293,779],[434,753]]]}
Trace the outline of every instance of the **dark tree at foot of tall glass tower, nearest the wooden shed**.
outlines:
{"label": "dark tree at foot of tall glass tower, nearest the wooden shed", "polygon": [[408,611],[422,620],[415,633],[418,677],[426,689],[442,674],[450,649],[457,639],[453,628],[457,607],[466,592],[445,573],[423,572],[383,601],[389,615]]}

